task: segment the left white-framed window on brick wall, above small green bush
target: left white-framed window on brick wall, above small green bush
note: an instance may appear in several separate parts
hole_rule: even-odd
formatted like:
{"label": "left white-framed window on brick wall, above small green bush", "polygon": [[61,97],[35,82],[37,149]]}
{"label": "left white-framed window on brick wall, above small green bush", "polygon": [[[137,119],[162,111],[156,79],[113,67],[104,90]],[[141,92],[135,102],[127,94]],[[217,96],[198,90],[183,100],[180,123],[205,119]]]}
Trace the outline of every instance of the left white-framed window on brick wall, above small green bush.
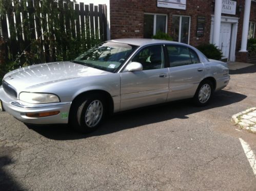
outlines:
{"label": "left white-framed window on brick wall, above small green bush", "polygon": [[167,15],[144,14],[144,38],[152,38],[157,31],[167,33]]}

